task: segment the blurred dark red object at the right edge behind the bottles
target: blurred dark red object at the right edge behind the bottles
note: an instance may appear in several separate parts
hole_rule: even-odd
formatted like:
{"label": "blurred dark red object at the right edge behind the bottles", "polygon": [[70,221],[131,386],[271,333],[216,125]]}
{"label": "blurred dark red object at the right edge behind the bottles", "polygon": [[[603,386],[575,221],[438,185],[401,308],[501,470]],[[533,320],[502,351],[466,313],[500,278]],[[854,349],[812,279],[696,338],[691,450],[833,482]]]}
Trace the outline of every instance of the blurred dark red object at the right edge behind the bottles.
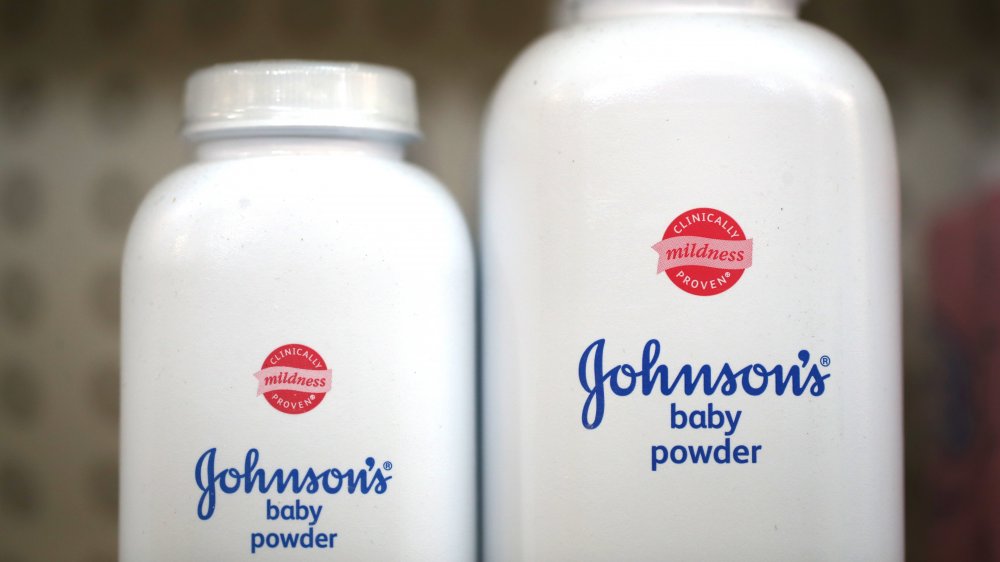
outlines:
{"label": "blurred dark red object at the right edge behind the bottles", "polygon": [[1000,188],[942,217],[930,241],[945,343],[930,560],[1000,560]]}

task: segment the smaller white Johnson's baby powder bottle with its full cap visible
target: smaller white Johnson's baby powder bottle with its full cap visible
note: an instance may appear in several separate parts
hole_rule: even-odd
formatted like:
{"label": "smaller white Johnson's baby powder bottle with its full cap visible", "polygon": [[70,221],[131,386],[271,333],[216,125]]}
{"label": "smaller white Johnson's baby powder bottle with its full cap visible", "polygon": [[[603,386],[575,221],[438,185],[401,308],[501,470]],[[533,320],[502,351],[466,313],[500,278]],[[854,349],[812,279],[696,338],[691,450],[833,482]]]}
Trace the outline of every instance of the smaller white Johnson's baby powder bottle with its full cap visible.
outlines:
{"label": "smaller white Johnson's baby powder bottle with its full cap visible", "polygon": [[411,78],[215,66],[122,283],[123,560],[469,560],[474,281]]}

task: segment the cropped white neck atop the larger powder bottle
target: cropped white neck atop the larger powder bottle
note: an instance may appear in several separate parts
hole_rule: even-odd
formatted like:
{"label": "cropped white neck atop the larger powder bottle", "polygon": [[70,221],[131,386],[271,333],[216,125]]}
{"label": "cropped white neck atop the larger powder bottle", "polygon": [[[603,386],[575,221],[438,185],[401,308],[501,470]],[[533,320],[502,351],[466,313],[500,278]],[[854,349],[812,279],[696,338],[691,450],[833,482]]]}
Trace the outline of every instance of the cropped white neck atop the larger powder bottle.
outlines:
{"label": "cropped white neck atop the larger powder bottle", "polygon": [[802,0],[568,0],[570,21],[662,14],[798,16]]}

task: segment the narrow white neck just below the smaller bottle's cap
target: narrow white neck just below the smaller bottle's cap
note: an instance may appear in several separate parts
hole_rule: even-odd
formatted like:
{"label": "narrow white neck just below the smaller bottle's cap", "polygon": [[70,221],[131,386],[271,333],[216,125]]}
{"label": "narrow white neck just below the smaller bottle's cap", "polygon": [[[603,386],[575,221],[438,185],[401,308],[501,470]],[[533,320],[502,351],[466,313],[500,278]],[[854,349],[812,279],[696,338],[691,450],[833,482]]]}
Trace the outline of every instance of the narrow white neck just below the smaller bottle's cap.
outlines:
{"label": "narrow white neck just below the smaller bottle's cap", "polygon": [[220,137],[195,143],[200,161],[268,156],[368,156],[402,160],[405,145],[398,139],[339,137]]}

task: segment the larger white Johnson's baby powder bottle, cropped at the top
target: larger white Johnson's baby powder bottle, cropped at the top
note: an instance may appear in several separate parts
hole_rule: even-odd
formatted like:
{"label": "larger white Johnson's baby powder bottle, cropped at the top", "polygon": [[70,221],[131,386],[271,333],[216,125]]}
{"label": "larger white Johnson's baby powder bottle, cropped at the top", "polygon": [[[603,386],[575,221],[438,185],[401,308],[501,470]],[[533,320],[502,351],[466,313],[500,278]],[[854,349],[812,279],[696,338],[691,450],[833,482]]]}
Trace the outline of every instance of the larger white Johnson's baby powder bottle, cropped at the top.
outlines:
{"label": "larger white Johnson's baby powder bottle, cropped at the top", "polygon": [[483,160],[489,560],[903,557],[889,108],[795,0],[579,0]]}

